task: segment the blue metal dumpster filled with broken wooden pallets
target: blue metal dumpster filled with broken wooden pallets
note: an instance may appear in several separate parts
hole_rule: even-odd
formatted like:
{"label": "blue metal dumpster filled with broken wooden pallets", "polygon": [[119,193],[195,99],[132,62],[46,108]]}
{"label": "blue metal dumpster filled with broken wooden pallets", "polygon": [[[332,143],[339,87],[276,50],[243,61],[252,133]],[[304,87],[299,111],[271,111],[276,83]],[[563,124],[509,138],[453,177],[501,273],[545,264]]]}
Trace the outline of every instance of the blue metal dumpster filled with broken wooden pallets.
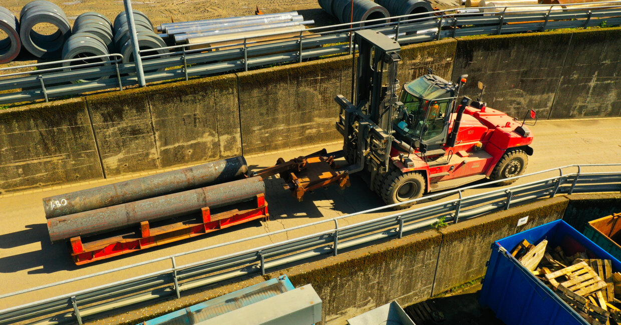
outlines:
{"label": "blue metal dumpster filled with broken wooden pallets", "polygon": [[563,220],[552,221],[492,244],[492,254],[481,288],[479,303],[491,308],[507,325],[584,324],[576,311],[511,256],[510,251],[526,239],[528,243],[548,240],[548,247],[561,246],[567,256],[586,252],[591,259],[612,260],[612,270],[621,262]]}

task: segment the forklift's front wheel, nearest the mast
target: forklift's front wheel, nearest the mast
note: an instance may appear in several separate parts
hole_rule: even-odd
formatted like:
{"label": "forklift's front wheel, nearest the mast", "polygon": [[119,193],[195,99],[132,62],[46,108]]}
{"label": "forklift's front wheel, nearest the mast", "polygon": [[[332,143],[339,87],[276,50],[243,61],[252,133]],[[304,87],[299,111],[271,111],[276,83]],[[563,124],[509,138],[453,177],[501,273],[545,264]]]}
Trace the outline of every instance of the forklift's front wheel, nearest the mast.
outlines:
{"label": "forklift's front wheel, nearest the mast", "polygon": [[[422,197],[425,193],[427,182],[419,172],[406,172],[402,174],[399,169],[392,171],[386,180],[382,190],[382,198],[386,204],[406,202],[414,198]],[[405,203],[392,207],[394,210],[409,208],[414,202]]]}

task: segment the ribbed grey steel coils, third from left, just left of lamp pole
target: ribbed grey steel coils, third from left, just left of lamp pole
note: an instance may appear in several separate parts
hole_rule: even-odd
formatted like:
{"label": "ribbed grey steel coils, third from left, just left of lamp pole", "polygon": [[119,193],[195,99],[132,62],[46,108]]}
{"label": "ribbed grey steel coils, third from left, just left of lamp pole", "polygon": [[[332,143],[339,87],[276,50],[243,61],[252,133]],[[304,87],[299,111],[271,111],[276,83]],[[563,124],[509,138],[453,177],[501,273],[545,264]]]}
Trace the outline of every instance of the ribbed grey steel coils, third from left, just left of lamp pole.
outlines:
{"label": "ribbed grey steel coils, third from left, just left of lamp pole", "polygon": [[[108,55],[114,48],[112,43],[112,24],[102,14],[97,12],[84,12],[73,23],[73,34],[63,46],[63,60],[81,58],[83,60],[64,62],[63,66],[82,65],[84,63],[101,62],[110,65],[110,59],[106,56],[92,58],[93,56]],[[72,81],[74,83],[107,79],[109,76],[98,78],[86,78]]]}

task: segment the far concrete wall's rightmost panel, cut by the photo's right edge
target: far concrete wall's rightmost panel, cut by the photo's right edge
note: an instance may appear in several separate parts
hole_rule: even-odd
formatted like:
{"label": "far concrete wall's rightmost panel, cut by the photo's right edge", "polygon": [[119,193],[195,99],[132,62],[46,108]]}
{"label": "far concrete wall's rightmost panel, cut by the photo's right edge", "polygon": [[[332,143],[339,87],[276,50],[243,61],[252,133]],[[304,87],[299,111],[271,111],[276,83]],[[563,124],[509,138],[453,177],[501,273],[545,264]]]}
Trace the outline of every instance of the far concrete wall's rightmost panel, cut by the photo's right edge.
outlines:
{"label": "far concrete wall's rightmost panel, cut by the photo's right edge", "polygon": [[621,115],[620,38],[620,28],[571,34],[550,118]]}

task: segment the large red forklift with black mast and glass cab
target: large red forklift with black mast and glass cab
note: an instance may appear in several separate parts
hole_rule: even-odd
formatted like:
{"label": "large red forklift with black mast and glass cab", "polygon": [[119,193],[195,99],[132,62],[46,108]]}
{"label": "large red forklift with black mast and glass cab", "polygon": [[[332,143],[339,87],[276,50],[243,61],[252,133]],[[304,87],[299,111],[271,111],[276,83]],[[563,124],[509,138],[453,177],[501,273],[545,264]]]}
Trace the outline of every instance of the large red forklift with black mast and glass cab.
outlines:
{"label": "large red forklift with black mast and glass cab", "polygon": [[[533,135],[525,125],[460,90],[432,71],[407,82],[397,93],[399,43],[374,30],[356,32],[358,63],[353,99],[335,97],[340,105],[337,130],[348,174],[366,171],[369,187],[386,204],[407,208],[424,194],[453,189],[481,179],[515,182],[533,154]],[[534,125],[534,123],[532,124]],[[328,155],[330,156],[330,154]]]}

